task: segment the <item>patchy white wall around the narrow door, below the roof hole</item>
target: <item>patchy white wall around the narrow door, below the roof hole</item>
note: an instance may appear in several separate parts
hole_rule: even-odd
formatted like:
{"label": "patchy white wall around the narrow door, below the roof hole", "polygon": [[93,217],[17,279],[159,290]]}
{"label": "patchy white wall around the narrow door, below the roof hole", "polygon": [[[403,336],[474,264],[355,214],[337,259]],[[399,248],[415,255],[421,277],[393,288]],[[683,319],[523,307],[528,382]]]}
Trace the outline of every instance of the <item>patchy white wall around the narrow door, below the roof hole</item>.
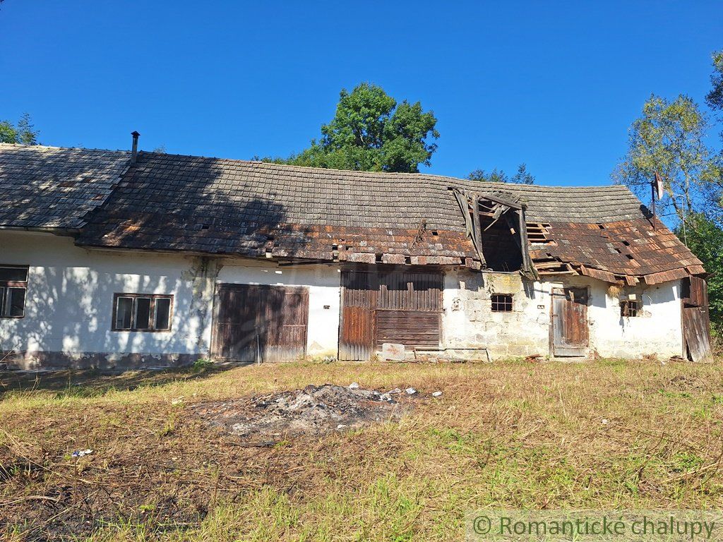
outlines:
{"label": "patchy white wall around the narrow door, below the roof hole", "polygon": [[[445,275],[442,317],[445,348],[487,348],[492,358],[550,355],[552,288],[589,288],[589,354],[602,357],[661,357],[683,353],[679,281],[626,288],[642,298],[641,316],[621,318],[618,297],[609,284],[587,277],[544,282],[522,281],[516,274],[451,271]],[[513,293],[510,313],[492,312],[492,293]]]}

